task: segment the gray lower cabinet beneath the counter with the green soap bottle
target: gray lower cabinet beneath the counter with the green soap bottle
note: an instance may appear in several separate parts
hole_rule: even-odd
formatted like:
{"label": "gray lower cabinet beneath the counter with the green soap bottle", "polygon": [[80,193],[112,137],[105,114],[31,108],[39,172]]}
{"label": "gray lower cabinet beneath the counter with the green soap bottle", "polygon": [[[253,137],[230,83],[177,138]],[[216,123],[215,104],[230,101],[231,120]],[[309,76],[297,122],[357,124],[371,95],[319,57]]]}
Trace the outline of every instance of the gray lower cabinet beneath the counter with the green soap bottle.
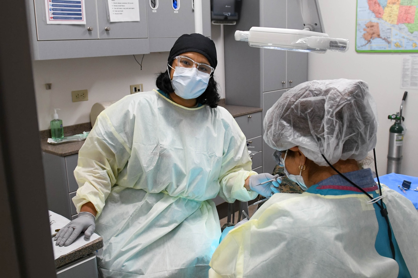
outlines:
{"label": "gray lower cabinet beneath the counter with the green soap bottle", "polygon": [[78,154],[58,156],[42,153],[48,209],[73,219],[76,209],[71,198],[78,188],[74,178]]}

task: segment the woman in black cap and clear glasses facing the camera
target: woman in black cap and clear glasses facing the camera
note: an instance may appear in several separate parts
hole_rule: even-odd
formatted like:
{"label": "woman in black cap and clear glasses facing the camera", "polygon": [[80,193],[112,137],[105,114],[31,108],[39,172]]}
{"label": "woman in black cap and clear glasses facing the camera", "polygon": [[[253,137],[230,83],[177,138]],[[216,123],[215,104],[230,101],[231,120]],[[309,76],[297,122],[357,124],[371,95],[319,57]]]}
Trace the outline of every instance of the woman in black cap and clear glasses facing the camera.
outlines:
{"label": "woman in black cap and clear glasses facing the camera", "polygon": [[211,200],[248,201],[277,192],[277,176],[251,171],[246,139],[217,106],[214,42],[182,35],[159,90],[105,109],[79,151],[78,218],[56,244],[96,230],[102,277],[207,277],[221,235]]}

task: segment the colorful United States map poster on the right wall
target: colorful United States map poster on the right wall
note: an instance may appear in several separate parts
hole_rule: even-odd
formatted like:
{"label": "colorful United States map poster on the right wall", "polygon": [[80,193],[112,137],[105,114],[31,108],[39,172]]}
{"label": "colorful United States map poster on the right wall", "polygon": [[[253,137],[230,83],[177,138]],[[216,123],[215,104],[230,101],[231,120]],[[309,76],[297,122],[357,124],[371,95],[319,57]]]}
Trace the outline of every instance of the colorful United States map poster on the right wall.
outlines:
{"label": "colorful United States map poster on the right wall", "polygon": [[357,52],[418,52],[418,0],[357,0]]}

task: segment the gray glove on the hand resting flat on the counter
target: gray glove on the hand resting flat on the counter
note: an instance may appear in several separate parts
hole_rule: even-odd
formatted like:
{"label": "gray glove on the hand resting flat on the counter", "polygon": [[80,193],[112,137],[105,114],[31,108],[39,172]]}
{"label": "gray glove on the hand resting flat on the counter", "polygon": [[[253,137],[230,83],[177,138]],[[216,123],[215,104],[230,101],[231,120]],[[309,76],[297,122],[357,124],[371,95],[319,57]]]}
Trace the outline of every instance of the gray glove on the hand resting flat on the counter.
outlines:
{"label": "gray glove on the hand resting flat on the counter", "polygon": [[92,213],[82,211],[78,214],[78,217],[65,225],[56,234],[54,240],[55,245],[68,246],[79,236],[81,232],[84,232],[85,238],[90,238],[96,225],[94,223],[94,215]]}

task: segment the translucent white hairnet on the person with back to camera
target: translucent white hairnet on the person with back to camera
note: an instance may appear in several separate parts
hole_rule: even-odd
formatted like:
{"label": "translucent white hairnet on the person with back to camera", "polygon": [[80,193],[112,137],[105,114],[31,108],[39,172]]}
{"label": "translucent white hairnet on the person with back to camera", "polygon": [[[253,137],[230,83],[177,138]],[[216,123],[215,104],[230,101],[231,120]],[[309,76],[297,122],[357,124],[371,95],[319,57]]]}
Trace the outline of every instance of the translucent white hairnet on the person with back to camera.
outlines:
{"label": "translucent white hairnet on the person with back to camera", "polygon": [[298,146],[320,166],[362,160],[376,145],[377,111],[362,80],[314,80],[288,90],[264,118],[264,140],[276,150]]}

